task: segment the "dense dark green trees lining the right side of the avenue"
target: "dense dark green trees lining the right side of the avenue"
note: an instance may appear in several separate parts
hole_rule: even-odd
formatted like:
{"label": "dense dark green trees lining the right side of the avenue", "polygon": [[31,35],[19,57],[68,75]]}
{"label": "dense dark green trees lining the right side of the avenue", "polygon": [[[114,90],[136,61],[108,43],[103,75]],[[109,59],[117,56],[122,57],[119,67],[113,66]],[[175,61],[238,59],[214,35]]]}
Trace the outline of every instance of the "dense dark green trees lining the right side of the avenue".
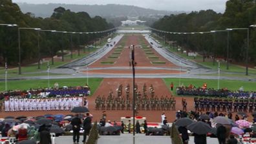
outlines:
{"label": "dense dark green trees lining the right side of the avenue", "polygon": [[[226,2],[224,14],[213,10],[200,10],[189,14],[165,15],[151,27],[168,32],[184,32],[183,34],[158,32],[158,35],[204,56],[225,59],[227,41],[229,41],[229,61],[237,63],[246,61],[248,31],[246,29],[227,31],[226,28],[249,28],[248,60],[256,65],[256,28],[250,25],[256,25],[256,4],[253,0],[229,0]],[[224,31],[210,32],[213,30]]]}

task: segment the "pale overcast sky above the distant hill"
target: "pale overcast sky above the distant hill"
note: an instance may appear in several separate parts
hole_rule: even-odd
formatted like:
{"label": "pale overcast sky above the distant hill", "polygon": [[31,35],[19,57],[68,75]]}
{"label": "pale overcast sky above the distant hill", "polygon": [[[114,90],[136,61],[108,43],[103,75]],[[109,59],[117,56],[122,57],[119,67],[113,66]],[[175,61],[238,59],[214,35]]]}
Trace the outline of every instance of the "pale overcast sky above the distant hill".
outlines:
{"label": "pale overcast sky above the distant hill", "polygon": [[212,9],[224,12],[227,0],[12,0],[14,3],[66,3],[79,5],[135,5],[143,8],[170,11],[192,11]]}

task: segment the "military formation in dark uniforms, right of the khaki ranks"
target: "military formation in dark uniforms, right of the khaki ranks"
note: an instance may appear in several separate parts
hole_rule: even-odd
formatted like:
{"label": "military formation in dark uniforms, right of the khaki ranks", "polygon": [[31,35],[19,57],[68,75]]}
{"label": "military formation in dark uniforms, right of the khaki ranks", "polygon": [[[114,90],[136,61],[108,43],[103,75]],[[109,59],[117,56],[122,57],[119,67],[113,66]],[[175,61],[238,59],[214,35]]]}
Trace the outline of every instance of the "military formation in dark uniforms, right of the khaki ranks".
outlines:
{"label": "military formation in dark uniforms, right of the khaki ranks", "polygon": [[256,110],[254,99],[210,99],[194,98],[195,110],[213,112],[253,112]]}

